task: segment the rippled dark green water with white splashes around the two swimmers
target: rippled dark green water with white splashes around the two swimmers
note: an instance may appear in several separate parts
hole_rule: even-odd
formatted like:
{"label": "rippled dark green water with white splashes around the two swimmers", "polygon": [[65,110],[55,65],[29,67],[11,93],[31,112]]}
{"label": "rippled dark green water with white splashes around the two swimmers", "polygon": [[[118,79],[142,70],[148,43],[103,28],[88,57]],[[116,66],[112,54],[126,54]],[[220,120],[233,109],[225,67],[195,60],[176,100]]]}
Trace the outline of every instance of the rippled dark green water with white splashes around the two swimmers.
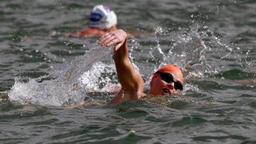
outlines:
{"label": "rippled dark green water with white splashes around the two swimmers", "polygon": [[[100,3],[137,33],[145,80],[164,63],[186,70],[181,97],[107,104],[111,50],[63,37]],[[256,143],[255,17],[254,0],[2,0],[0,143]]]}

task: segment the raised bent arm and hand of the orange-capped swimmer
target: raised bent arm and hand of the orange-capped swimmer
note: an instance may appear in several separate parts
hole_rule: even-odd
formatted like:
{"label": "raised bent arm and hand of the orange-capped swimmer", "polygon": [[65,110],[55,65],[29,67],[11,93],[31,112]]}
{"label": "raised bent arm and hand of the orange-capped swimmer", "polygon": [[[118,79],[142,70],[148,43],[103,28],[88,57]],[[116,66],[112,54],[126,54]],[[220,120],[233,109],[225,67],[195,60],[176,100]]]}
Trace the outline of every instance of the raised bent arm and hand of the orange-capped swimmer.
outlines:
{"label": "raised bent arm and hand of the orange-capped swimmer", "polygon": [[102,46],[114,46],[114,63],[122,89],[111,100],[111,103],[137,100],[143,94],[143,79],[134,70],[128,57],[127,34],[124,30],[115,30],[102,35],[99,39]]}

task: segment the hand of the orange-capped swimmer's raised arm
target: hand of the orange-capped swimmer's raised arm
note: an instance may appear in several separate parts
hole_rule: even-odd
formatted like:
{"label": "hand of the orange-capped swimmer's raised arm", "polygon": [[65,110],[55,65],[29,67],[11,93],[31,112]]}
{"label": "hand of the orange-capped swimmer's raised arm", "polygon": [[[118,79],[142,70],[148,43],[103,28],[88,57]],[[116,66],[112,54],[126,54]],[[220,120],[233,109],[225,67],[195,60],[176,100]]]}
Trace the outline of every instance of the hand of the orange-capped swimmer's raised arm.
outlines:
{"label": "hand of the orange-capped swimmer's raised arm", "polygon": [[124,42],[126,42],[127,34],[124,30],[115,30],[106,34],[103,34],[101,38],[99,38],[99,44],[102,46],[113,46],[114,50],[118,50]]}

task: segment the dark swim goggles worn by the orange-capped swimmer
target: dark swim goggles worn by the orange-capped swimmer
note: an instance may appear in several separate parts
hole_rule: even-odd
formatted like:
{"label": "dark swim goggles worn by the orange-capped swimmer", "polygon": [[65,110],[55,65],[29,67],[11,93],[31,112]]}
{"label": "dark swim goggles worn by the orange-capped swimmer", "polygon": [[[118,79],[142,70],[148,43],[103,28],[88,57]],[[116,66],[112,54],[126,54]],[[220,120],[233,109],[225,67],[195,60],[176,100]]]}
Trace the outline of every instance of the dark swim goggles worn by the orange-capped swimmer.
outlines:
{"label": "dark swim goggles worn by the orange-capped swimmer", "polygon": [[157,71],[154,74],[160,74],[161,79],[167,83],[174,82],[175,90],[183,90],[182,82],[179,82],[179,81],[175,82],[173,74],[164,73],[160,71]]}

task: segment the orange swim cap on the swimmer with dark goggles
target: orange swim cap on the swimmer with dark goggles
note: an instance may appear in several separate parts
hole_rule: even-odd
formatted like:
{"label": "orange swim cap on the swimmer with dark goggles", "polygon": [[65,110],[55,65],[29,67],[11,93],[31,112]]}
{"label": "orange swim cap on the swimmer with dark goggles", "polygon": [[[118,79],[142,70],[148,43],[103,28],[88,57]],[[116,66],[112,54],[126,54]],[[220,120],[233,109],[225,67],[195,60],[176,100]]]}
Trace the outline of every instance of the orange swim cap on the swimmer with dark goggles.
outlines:
{"label": "orange swim cap on the swimmer with dark goggles", "polygon": [[[166,65],[162,66],[158,71],[163,72],[163,73],[172,73],[172,74],[178,74],[179,80],[182,82],[184,81],[182,70],[180,69],[179,66],[177,65]],[[151,78],[151,82],[154,80],[154,78],[158,77],[159,74],[154,74],[153,77]]]}

